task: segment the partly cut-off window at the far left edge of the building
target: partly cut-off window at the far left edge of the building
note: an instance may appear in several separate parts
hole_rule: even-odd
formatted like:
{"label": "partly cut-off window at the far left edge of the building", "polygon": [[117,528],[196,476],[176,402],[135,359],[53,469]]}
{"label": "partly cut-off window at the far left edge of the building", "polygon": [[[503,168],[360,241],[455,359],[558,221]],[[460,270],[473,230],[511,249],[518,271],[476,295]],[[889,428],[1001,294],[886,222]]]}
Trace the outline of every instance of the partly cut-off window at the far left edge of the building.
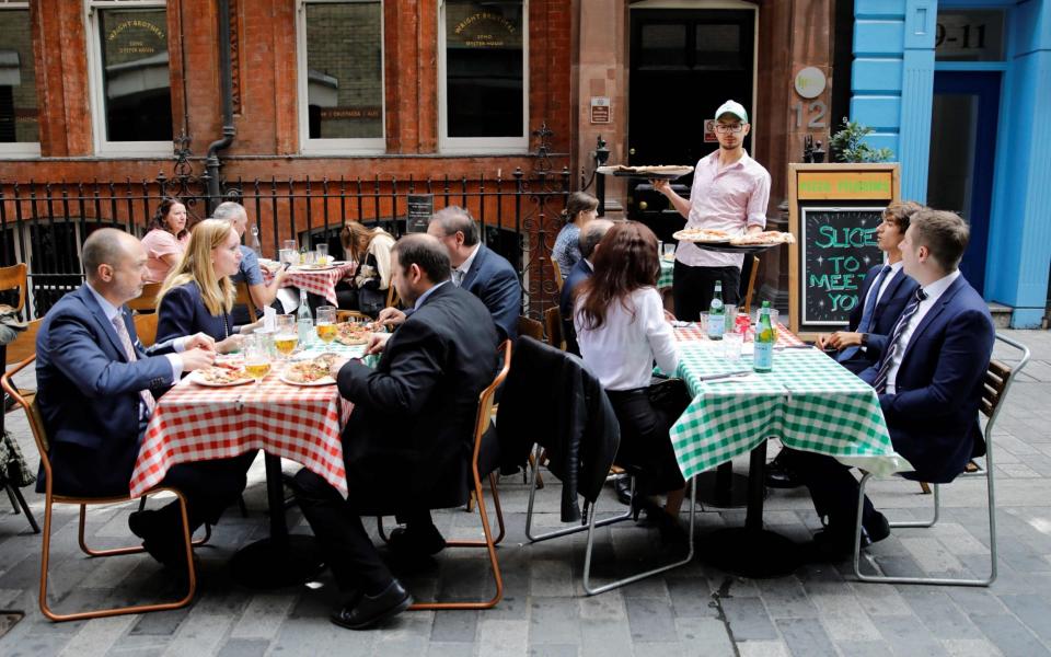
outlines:
{"label": "partly cut-off window at the far left edge of the building", "polygon": [[27,2],[0,2],[0,158],[41,154]]}

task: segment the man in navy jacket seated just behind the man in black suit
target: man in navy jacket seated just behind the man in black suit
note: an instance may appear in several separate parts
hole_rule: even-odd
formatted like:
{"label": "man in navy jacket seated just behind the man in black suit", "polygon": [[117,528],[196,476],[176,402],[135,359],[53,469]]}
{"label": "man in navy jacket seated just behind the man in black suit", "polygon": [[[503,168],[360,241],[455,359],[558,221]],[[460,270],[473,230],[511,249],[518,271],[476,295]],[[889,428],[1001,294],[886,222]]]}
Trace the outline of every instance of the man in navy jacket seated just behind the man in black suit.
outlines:
{"label": "man in navy jacket seated just behind the man in black suit", "polygon": [[452,284],[489,309],[500,341],[518,337],[522,311],[522,286],[507,260],[482,243],[478,223],[466,209],[449,206],[435,212],[427,234],[438,238],[449,251]]}

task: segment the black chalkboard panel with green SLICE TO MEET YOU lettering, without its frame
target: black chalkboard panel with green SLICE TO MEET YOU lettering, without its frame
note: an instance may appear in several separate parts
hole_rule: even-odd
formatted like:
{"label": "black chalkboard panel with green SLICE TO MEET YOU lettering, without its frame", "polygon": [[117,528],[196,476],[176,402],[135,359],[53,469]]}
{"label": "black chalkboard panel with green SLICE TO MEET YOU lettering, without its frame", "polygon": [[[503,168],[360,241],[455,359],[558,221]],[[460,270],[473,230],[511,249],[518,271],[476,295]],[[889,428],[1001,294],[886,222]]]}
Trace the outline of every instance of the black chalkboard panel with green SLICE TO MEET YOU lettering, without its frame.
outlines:
{"label": "black chalkboard panel with green SLICE TO MEET YOU lettering, without its frame", "polygon": [[865,275],[883,262],[876,245],[882,207],[799,208],[801,324],[840,327],[861,302]]}

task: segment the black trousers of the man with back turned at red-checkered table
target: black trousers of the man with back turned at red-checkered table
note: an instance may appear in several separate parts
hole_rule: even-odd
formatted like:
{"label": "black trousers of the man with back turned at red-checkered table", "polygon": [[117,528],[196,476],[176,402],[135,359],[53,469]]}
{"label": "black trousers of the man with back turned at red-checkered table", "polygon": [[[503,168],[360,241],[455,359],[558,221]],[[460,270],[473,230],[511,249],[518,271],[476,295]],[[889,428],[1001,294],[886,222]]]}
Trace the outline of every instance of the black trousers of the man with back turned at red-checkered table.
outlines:
{"label": "black trousers of the man with back turned at red-checkered table", "polygon": [[[328,482],[303,468],[296,473],[293,492],[340,590],[374,596],[390,586],[394,576],[365,530],[355,491],[344,499]],[[431,522],[427,509],[400,512],[397,520],[415,527]]]}

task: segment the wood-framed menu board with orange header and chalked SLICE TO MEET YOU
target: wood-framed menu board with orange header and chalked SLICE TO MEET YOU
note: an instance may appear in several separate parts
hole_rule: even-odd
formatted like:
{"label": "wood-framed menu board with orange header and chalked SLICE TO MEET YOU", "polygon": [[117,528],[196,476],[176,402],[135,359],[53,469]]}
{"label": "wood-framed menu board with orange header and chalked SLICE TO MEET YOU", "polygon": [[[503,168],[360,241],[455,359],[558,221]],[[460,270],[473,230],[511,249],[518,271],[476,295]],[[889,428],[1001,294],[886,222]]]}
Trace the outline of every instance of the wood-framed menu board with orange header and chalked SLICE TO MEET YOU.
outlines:
{"label": "wood-framed menu board with orange header and chalked SLICE TO MEET YOU", "polygon": [[847,325],[865,276],[883,262],[876,229],[900,194],[897,163],[788,165],[793,333],[810,341]]}

